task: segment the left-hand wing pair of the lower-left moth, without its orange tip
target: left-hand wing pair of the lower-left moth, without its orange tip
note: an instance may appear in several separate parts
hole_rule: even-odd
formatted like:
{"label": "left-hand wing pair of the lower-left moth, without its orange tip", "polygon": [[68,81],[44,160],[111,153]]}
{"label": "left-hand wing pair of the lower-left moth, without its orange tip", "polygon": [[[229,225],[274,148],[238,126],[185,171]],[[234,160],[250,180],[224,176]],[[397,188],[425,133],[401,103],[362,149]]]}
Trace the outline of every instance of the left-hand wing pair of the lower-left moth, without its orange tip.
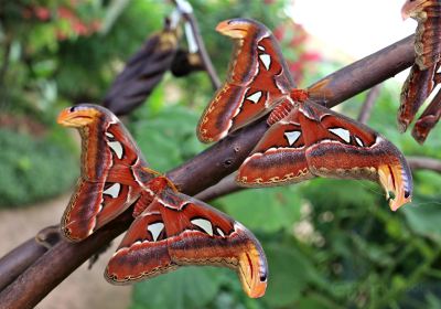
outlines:
{"label": "left-hand wing pair of the lower-left moth, without its orange tip", "polygon": [[122,213],[139,196],[140,182],[151,178],[142,170],[147,163],[122,124],[103,107],[84,108],[100,116],[79,128],[82,174],[61,222],[63,234],[73,242]]}

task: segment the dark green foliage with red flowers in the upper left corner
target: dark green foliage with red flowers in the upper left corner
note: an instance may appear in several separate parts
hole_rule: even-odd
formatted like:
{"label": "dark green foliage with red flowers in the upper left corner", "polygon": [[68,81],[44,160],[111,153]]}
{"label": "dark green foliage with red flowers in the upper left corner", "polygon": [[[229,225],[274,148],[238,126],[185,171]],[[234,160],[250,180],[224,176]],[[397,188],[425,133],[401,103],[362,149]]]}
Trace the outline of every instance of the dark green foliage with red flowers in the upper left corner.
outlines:
{"label": "dark green foliage with red flowers in the upper left corner", "polygon": [[[0,107],[50,122],[61,102],[99,103],[116,73],[148,33],[162,25],[170,6],[132,1],[107,21],[111,1],[13,1],[0,22]],[[122,8],[123,9],[123,8]],[[154,11],[146,18],[147,12]],[[47,115],[47,111],[50,115]]]}

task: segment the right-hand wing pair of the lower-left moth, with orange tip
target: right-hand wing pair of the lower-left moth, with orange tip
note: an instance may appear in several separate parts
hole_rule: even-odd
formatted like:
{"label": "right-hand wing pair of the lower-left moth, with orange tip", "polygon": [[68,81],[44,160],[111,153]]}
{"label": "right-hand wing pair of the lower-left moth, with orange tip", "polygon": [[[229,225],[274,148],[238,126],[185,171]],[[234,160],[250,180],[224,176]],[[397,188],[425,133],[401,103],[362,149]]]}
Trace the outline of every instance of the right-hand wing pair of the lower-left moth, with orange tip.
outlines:
{"label": "right-hand wing pair of the lower-left moth, with orange tip", "polygon": [[161,195],[169,198],[157,198],[130,226],[106,269],[109,281],[126,284],[179,266],[212,265],[236,269],[250,297],[265,294],[267,262],[249,231],[201,201],[171,190]]}

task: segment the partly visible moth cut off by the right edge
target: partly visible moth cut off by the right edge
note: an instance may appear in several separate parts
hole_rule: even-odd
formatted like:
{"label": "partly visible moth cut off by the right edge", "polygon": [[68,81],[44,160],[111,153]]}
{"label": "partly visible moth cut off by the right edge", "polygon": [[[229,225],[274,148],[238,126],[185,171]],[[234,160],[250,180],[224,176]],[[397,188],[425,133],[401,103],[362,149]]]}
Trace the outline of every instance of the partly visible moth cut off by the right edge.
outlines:
{"label": "partly visible moth cut off by the right edge", "polygon": [[[418,22],[415,35],[416,60],[400,96],[398,125],[404,132],[412,122],[418,109],[441,82],[441,1],[407,0],[401,9],[404,19]],[[412,136],[423,143],[441,117],[441,90],[416,121]]]}

